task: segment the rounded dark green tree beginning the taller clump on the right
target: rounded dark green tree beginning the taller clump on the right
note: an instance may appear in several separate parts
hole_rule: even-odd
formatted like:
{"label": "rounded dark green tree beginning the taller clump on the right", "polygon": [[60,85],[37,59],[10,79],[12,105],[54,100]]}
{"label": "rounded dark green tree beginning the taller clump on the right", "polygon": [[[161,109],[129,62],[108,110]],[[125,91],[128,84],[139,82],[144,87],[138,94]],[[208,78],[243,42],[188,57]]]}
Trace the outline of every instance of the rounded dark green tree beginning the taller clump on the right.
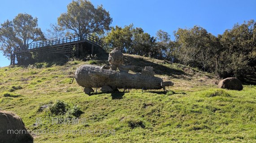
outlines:
{"label": "rounded dark green tree beginning the taller clump on the right", "polygon": [[216,37],[200,26],[178,29],[174,36],[177,43],[175,50],[181,63],[203,69],[209,65],[210,55],[216,48]]}

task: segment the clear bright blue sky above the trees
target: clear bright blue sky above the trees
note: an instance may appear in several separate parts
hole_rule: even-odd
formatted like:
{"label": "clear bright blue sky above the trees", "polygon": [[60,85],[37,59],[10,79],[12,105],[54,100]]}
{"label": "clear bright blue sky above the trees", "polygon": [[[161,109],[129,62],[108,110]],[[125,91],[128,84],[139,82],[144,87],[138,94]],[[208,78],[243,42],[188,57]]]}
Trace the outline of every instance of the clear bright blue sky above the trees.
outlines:
{"label": "clear bright blue sky above the trees", "polygon": [[[72,0],[0,0],[0,23],[12,20],[18,13],[38,18],[43,32],[66,12]],[[232,29],[234,24],[256,20],[256,0],[91,0],[110,12],[112,26],[134,24],[155,36],[162,29],[172,35],[178,28],[200,25],[213,35]],[[10,61],[0,53],[0,66]]]}

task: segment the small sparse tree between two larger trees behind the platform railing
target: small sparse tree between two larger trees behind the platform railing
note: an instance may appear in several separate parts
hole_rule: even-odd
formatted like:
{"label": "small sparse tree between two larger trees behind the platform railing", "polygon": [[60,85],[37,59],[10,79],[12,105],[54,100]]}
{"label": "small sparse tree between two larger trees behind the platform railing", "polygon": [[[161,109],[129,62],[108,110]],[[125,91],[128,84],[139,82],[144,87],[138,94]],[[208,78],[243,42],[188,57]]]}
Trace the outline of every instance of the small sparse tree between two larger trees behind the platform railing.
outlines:
{"label": "small sparse tree between two larger trees behind the platform railing", "polygon": [[65,37],[65,30],[61,28],[59,25],[51,24],[50,27],[51,29],[46,29],[48,39]]}

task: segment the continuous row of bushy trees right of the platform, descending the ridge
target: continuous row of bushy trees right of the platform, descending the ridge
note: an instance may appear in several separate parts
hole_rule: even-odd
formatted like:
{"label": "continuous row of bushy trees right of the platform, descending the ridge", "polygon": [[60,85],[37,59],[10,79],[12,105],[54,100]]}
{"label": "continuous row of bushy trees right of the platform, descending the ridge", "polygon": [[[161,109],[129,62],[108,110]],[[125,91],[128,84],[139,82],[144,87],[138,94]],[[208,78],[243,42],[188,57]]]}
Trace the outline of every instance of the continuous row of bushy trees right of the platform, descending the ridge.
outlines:
{"label": "continuous row of bushy trees right of the platform, descending the ridge", "polygon": [[175,40],[159,30],[151,37],[133,25],[112,27],[104,37],[105,49],[119,47],[123,53],[165,59],[214,73],[220,78],[255,78],[256,23],[234,25],[217,37],[200,26],[174,31]]}

